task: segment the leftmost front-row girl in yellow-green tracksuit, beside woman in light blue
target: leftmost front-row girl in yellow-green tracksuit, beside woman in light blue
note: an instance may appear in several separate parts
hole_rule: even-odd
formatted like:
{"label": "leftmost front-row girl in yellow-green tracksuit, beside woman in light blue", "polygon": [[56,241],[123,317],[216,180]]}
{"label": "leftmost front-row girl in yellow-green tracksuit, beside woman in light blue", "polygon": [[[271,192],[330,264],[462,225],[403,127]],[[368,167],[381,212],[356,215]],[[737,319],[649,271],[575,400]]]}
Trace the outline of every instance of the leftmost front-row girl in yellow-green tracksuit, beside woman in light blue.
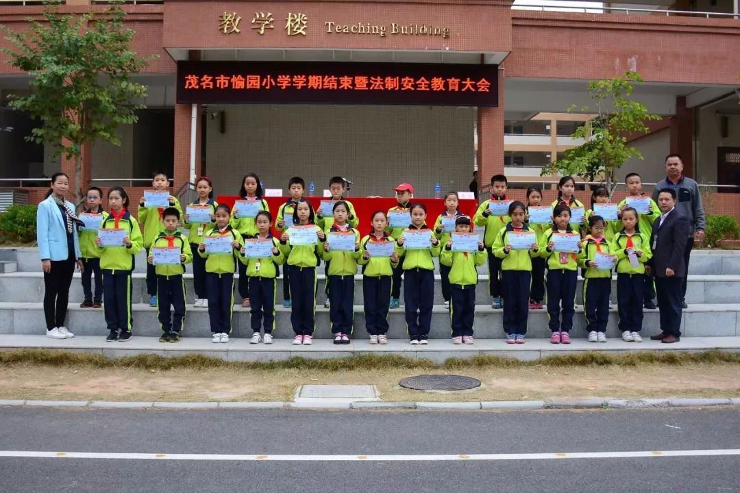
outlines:
{"label": "leftmost front-row girl in yellow-green tracksuit, beside woman in light blue", "polygon": [[[103,273],[103,308],[109,334],[106,341],[128,341],[133,326],[131,317],[131,272],[134,256],[141,251],[144,238],[138,222],[128,211],[129,196],[120,186],[108,189],[110,214],[101,223],[101,229],[128,231],[122,246],[101,247],[101,238],[95,238],[100,249],[100,269]],[[120,333],[118,332],[120,330]]]}

